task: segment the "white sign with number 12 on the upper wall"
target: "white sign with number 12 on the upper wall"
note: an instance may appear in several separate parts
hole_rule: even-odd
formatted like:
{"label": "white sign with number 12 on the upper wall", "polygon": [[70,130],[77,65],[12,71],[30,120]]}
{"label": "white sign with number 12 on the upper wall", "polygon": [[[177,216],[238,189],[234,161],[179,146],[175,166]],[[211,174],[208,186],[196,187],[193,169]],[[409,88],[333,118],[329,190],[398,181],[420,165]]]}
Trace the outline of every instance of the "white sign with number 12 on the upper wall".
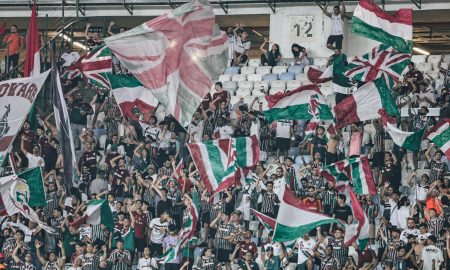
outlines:
{"label": "white sign with number 12 on the upper wall", "polygon": [[292,43],[313,42],[317,38],[316,16],[291,16],[289,38]]}

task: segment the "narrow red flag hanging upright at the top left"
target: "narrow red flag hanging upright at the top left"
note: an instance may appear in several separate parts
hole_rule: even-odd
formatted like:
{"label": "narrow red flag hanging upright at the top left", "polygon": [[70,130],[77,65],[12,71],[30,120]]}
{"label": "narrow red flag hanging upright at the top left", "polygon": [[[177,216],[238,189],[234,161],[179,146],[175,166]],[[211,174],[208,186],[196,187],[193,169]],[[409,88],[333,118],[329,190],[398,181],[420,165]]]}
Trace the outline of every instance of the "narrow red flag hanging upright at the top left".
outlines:
{"label": "narrow red flag hanging upright at the top left", "polygon": [[41,59],[39,55],[39,31],[36,16],[36,0],[31,12],[27,34],[27,52],[25,55],[25,77],[41,73]]}

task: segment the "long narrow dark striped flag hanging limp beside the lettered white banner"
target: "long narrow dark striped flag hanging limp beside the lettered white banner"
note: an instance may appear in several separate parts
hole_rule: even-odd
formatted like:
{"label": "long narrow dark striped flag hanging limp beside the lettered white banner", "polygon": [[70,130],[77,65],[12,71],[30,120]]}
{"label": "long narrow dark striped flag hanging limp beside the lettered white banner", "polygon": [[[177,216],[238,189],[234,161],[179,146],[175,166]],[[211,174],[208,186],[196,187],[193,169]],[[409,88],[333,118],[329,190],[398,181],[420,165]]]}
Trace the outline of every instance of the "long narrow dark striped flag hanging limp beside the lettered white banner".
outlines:
{"label": "long narrow dark striped flag hanging limp beside the lettered white banner", "polygon": [[[53,55],[55,49],[53,48]],[[58,130],[58,141],[61,144],[61,152],[63,156],[64,167],[64,184],[69,190],[73,186],[73,176],[75,168],[73,167],[75,157],[75,146],[73,143],[72,129],[70,128],[69,113],[67,111],[67,104],[64,100],[64,94],[61,87],[61,80],[59,78],[58,67],[56,66],[56,59],[52,59],[52,81],[51,88],[53,92],[53,112],[55,114],[56,128]]]}

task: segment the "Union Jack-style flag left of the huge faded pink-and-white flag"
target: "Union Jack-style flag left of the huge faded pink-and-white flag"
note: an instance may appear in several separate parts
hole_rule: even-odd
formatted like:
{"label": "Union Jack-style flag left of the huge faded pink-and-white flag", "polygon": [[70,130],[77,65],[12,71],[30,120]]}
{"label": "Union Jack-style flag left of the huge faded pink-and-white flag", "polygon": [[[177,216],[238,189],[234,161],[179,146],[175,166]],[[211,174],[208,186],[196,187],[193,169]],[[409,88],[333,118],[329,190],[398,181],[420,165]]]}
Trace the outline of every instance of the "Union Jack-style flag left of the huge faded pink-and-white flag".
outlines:
{"label": "Union Jack-style flag left of the huge faded pink-and-white flag", "polygon": [[92,85],[111,88],[107,75],[112,73],[111,50],[105,45],[97,46],[81,60],[84,76]]}

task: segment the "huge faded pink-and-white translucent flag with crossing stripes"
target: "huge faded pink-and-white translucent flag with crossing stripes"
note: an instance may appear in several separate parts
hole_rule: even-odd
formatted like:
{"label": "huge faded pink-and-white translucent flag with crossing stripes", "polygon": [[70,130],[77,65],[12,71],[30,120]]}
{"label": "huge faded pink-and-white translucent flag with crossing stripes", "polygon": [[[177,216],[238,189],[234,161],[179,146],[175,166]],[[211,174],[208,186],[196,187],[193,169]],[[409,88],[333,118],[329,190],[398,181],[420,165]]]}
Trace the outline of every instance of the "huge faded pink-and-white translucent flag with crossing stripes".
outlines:
{"label": "huge faded pink-and-white translucent flag with crossing stripes", "polygon": [[105,42],[182,126],[227,64],[228,37],[207,0],[186,3]]}

